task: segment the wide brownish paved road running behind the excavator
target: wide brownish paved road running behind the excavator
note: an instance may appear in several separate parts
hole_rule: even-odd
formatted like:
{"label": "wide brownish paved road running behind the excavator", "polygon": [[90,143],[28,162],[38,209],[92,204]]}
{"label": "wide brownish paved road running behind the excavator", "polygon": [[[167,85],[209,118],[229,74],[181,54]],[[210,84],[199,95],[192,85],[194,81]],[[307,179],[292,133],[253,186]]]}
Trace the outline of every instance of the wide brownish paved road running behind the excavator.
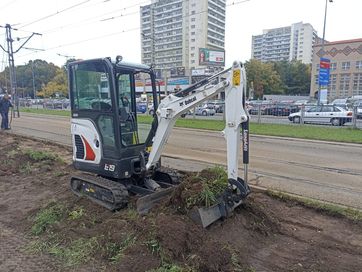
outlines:
{"label": "wide brownish paved road running behind the excavator", "polygon": [[[23,114],[13,132],[70,145],[69,118]],[[180,170],[225,165],[220,133],[174,129],[163,163]],[[362,145],[252,136],[249,182],[362,209]],[[240,164],[242,176],[243,165]]]}

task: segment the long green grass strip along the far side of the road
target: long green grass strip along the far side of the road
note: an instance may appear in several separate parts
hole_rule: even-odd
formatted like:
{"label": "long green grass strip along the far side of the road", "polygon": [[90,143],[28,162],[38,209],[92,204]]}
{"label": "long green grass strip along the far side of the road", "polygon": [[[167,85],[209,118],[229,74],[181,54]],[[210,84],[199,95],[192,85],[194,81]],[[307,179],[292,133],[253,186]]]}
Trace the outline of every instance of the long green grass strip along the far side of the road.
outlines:
{"label": "long green grass strip along the far side of the road", "polygon": [[[65,110],[23,109],[24,112],[70,116]],[[151,124],[152,117],[138,115],[140,123]],[[176,127],[190,129],[204,129],[221,131],[225,127],[223,120],[178,119]],[[254,135],[280,136],[290,138],[302,138],[310,140],[323,140],[333,142],[346,142],[362,144],[362,129],[334,128],[329,126],[292,125],[292,124],[257,124],[250,123],[250,133]]]}

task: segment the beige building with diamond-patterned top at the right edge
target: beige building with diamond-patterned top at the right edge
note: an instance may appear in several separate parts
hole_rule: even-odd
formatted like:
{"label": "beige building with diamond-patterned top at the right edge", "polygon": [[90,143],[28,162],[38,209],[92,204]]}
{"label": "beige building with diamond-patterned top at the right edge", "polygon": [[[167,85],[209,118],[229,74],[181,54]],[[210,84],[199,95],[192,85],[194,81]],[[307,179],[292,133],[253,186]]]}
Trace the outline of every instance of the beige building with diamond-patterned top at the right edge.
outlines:
{"label": "beige building with diamond-patterned top at the right edge", "polygon": [[310,96],[318,91],[320,58],[331,61],[328,100],[362,95],[362,39],[326,42],[313,46]]}

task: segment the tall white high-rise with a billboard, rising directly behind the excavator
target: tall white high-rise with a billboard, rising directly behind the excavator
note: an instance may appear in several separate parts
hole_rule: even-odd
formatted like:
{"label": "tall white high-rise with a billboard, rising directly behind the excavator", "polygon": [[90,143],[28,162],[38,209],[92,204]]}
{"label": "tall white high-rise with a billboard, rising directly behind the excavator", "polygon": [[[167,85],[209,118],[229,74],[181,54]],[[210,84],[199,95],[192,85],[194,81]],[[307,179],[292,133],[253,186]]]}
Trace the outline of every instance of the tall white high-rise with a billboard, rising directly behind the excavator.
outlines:
{"label": "tall white high-rise with a billboard, rising directly behind the excavator", "polygon": [[142,62],[168,78],[223,68],[225,7],[225,0],[153,0],[142,6]]}

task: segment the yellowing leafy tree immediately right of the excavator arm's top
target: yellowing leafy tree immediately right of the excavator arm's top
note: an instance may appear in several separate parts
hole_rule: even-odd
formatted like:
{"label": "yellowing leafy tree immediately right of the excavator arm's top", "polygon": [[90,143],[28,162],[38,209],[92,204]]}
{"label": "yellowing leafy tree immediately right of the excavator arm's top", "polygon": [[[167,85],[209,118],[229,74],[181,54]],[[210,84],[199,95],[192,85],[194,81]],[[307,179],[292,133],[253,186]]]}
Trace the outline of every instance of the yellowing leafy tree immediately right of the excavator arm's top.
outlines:
{"label": "yellowing leafy tree immediately right of the excavator arm's top", "polygon": [[245,68],[248,88],[253,84],[256,98],[262,98],[264,94],[283,93],[282,81],[272,63],[251,59],[245,63]]}

